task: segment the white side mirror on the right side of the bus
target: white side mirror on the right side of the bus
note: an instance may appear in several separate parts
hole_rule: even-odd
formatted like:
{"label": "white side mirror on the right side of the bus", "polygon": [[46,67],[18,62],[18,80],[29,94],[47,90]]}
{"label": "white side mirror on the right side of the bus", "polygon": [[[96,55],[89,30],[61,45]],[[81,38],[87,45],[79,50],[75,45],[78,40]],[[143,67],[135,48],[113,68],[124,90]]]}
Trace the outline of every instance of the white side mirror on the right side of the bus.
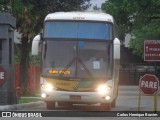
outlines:
{"label": "white side mirror on the right side of the bus", "polygon": [[118,38],[115,38],[113,41],[113,47],[114,47],[114,59],[120,59],[120,40]]}

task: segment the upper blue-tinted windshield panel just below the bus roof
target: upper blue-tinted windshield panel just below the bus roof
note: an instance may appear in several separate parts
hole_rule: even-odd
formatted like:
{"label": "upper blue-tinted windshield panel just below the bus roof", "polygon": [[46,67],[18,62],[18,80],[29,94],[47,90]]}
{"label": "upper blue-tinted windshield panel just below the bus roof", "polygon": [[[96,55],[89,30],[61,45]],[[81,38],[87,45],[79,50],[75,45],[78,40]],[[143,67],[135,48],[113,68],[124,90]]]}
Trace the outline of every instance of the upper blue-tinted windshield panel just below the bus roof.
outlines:
{"label": "upper blue-tinted windshield panel just below the bus roof", "polygon": [[44,38],[113,39],[112,24],[107,22],[47,21]]}

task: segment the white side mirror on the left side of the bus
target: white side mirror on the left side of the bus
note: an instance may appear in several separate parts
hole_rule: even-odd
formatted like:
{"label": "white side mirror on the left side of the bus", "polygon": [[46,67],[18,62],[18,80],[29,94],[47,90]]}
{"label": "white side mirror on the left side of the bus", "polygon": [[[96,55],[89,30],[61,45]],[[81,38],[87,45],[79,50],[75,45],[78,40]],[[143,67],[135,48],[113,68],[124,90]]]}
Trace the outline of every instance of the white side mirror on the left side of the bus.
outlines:
{"label": "white side mirror on the left side of the bus", "polygon": [[38,55],[40,40],[41,40],[41,35],[36,35],[33,38],[32,51],[31,51],[32,55]]}

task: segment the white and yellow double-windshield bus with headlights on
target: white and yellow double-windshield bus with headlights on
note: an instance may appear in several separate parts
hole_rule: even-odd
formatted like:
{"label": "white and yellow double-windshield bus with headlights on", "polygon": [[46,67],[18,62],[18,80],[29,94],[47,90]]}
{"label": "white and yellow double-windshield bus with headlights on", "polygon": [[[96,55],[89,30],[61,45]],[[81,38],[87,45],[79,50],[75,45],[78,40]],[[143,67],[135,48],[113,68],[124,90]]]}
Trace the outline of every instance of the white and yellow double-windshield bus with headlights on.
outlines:
{"label": "white and yellow double-windshield bus with headlights on", "polygon": [[[56,12],[32,43],[41,54],[41,97],[47,109],[96,104],[110,110],[118,96],[120,41],[106,13]],[[41,44],[41,47],[39,47]]]}

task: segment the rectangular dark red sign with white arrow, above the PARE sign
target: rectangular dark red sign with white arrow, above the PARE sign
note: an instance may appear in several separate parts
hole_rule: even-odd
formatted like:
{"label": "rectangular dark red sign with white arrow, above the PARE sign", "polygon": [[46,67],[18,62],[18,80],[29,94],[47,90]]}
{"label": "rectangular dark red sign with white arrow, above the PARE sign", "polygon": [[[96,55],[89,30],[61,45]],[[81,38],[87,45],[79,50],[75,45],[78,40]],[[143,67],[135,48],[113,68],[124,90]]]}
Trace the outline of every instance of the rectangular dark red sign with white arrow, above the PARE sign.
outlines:
{"label": "rectangular dark red sign with white arrow, above the PARE sign", "polygon": [[144,41],[144,61],[160,61],[160,40]]}

